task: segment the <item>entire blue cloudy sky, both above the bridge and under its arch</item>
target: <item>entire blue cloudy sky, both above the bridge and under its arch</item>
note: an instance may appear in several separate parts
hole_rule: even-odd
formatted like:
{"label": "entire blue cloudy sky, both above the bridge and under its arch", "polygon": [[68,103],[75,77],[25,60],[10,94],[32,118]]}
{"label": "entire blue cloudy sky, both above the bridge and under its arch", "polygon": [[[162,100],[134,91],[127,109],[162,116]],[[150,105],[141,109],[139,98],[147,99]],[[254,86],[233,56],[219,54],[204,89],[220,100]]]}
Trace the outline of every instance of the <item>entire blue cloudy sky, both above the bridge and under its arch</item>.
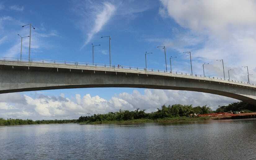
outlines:
{"label": "entire blue cloudy sky, both above the bridge and under its arch", "polygon": [[[256,2],[253,0],[70,0],[0,2],[0,57],[20,57],[20,34],[31,33],[31,58],[165,69],[247,82],[256,79]],[[29,38],[22,57],[28,58]],[[208,105],[213,110],[238,100],[193,91],[139,88],[80,88],[0,95],[0,117],[77,119],[122,110],[156,111],[166,104]]]}

